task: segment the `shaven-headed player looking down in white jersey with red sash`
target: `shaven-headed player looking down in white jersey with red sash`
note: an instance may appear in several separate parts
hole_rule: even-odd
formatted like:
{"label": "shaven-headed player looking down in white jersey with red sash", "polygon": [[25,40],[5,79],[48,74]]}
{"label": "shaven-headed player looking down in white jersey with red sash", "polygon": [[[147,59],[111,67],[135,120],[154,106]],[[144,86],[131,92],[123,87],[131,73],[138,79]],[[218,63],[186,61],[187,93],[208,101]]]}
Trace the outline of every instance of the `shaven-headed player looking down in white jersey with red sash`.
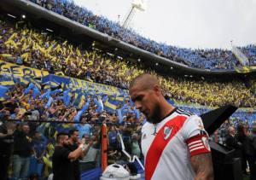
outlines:
{"label": "shaven-headed player looking down in white jersey with red sash", "polygon": [[213,180],[212,154],[201,118],[172,107],[154,76],[131,81],[129,93],[147,119],[142,129],[146,180]]}

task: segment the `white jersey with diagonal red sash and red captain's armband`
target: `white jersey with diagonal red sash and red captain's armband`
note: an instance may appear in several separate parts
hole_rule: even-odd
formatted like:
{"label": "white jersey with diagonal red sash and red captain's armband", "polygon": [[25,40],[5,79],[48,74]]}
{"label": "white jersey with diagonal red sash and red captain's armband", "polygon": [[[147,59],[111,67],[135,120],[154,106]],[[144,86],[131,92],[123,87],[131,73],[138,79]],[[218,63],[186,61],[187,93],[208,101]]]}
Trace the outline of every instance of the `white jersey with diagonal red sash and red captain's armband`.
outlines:
{"label": "white jersey with diagonal red sash and red captain's armband", "polygon": [[175,109],[160,123],[142,129],[145,180],[193,180],[190,157],[209,153],[201,118]]}

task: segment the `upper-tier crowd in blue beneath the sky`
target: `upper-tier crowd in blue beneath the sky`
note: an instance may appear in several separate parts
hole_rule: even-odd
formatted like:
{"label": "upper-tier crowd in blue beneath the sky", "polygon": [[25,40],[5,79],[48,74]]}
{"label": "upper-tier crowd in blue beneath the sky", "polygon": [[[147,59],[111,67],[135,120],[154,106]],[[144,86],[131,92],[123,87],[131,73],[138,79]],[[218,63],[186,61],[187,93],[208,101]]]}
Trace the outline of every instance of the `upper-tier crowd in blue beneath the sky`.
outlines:
{"label": "upper-tier crowd in blue beneath the sky", "polygon": [[[131,29],[126,29],[118,23],[106,19],[105,17],[94,15],[90,10],[81,8],[73,1],[68,0],[31,0],[46,9],[52,10],[59,15],[63,15],[71,20],[78,21],[84,26],[89,26],[100,32],[119,38],[126,43],[146,49],[156,55],[161,55],[172,61],[181,62],[190,67],[206,69],[232,69],[239,65],[235,55],[230,50],[224,49],[183,49],[171,45],[155,42],[144,38]],[[256,47],[248,45],[240,48],[247,56],[250,66],[256,64]]]}

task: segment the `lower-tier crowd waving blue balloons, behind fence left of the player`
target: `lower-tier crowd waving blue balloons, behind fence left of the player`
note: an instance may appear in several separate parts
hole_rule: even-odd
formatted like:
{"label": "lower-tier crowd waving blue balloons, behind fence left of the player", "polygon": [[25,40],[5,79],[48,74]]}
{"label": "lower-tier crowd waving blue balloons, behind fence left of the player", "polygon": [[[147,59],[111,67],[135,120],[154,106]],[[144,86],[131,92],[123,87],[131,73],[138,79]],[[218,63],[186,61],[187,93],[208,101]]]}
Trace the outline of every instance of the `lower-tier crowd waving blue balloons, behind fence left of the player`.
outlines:
{"label": "lower-tier crowd waving blue balloons, behind fence left of the player", "polygon": [[[41,90],[32,83],[17,83],[9,87],[5,100],[0,102],[0,177],[6,174],[15,179],[47,178],[52,172],[56,133],[66,132],[73,136],[73,130],[77,130],[79,140],[84,138],[86,146],[90,147],[80,160],[81,171],[95,168],[101,163],[102,123],[111,124],[108,125],[108,163],[127,161],[121,154],[117,133],[122,136],[126,151],[140,157],[139,131],[144,117],[132,110],[134,107],[128,100],[120,108],[123,117],[119,119],[117,113],[109,113],[99,105],[98,102],[104,100],[93,92],[86,95],[86,101],[80,107],[73,95],[69,101],[63,101],[67,90],[56,87],[44,90],[44,87]],[[14,119],[28,122],[12,121]]]}

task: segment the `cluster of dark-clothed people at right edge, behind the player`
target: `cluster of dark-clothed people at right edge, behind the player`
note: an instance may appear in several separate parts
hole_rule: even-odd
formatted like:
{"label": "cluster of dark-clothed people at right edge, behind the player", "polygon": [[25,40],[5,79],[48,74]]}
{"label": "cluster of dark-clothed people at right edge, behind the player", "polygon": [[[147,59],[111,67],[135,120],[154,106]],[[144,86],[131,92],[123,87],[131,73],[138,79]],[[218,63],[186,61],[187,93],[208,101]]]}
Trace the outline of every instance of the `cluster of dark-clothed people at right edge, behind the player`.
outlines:
{"label": "cluster of dark-clothed people at right edge, behind the player", "polygon": [[225,122],[212,136],[213,141],[224,144],[234,150],[233,156],[240,158],[241,170],[244,175],[250,175],[250,180],[256,178],[256,123],[250,126],[242,121]]}

